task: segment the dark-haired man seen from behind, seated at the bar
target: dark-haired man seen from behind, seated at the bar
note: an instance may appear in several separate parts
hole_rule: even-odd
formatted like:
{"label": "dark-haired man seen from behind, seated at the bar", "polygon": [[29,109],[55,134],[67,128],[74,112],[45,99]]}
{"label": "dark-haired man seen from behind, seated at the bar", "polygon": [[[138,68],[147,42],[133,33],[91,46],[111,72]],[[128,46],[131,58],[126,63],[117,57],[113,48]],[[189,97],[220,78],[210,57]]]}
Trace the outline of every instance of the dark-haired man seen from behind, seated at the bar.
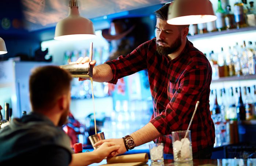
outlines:
{"label": "dark-haired man seen from behind, seated at the bar", "polygon": [[73,154],[61,129],[71,102],[71,75],[55,66],[36,68],[29,80],[32,112],[0,130],[0,165],[67,166],[101,162],[120,148],[103,143],[93,152]]}

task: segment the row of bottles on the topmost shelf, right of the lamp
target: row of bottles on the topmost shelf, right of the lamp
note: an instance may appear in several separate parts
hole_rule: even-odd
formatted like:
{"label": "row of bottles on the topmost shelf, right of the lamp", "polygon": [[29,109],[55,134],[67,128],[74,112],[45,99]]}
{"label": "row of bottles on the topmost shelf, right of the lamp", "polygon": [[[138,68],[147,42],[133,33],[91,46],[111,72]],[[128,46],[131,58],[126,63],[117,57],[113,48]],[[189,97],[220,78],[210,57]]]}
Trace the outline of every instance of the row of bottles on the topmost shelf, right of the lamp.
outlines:
{"label": "row of bottles on the topmost shelf, right of the lamp", "polygon": [[215,11],[217,20],[190,25],[189,35],[256,26],[256,13],[253,3],[253,1],[250,1],[248,5],[247,0],[238,0],[233,6],[234,12],[231,12],[228,0],[218,0],[218,9]]}

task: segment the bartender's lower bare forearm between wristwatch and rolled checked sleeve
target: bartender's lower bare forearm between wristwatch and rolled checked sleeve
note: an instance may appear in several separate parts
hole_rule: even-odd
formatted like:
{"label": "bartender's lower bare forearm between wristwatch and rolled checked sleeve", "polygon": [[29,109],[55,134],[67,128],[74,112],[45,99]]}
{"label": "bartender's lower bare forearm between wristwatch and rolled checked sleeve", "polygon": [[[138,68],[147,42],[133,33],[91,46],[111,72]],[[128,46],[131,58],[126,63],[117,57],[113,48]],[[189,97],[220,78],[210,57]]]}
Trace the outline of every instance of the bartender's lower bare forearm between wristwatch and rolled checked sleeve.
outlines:
{"label": "bartender's lower bare forearm between wristwatch and rolled checked sleeve", "polygon": [[131,134],[136,146],[153,141],[161,135],[162,134],[158,132],[157,128],[155,128],[150,122],[143,128]]}

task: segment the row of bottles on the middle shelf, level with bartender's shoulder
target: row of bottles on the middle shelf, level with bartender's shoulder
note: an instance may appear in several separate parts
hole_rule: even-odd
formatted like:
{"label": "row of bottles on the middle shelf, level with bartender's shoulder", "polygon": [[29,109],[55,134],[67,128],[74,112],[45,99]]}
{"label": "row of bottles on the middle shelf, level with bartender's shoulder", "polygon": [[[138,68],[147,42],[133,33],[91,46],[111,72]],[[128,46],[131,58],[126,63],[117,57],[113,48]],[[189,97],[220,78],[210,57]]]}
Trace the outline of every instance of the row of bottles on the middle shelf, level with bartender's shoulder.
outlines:
{"label": "row of bottles on the middle shelf, level with bartender's shoulder", "polygon": [[212,67],[212,80],[227,76],[247,76],[256,73],[256,42],[252,41],[246,45],[243,41],[242,45],[236,43],[233,48],[220,49],[219,53],[211,51],[206,54],[207,59]]}

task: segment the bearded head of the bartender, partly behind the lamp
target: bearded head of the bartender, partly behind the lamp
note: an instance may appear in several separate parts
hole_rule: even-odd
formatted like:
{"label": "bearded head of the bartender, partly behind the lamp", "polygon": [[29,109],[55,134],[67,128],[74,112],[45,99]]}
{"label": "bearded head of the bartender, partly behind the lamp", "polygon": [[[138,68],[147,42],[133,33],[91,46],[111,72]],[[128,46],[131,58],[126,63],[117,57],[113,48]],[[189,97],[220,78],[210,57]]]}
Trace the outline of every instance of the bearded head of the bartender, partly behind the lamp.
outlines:
{"label": "bearded head of the bartender, partly behind the lamp", "polygon": [[176,52],[182,42],[187,41],[189,30],[189,25],[171,25],[167,23],[169,5],[170,3],[165,4],[155,11],[157,18],[157,52],[165,55]]}

